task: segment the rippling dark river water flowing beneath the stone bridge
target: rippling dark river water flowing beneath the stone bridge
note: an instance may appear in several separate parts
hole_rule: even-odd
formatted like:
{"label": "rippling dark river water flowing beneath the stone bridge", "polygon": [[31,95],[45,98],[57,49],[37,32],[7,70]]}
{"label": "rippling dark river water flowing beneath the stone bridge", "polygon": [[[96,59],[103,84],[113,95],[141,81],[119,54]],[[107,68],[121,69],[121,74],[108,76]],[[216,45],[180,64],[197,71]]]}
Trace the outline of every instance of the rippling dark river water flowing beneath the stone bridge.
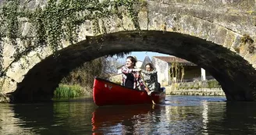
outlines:
{"label": "rippling dark river water flowing beneath the stone bridge", "polygon": [[94,105],[91,98],[0,104],[0,134],[256,134],[256,103],[168,96],[165,105]]}

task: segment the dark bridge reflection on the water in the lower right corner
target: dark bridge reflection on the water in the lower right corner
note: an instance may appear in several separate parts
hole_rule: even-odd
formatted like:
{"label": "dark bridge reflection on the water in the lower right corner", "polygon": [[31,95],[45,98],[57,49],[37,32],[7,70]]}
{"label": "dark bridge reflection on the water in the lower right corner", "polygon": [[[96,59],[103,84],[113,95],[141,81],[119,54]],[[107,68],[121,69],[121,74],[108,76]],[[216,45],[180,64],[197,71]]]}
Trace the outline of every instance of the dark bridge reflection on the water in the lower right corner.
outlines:
{"label": "dark bridge reflection on the water in the lower right corner", "polygon": [[[256,103],[226,102],[211,112],[208,132],[219,134],[255,134]],[[217,113],[218,112],[218,113]]]}

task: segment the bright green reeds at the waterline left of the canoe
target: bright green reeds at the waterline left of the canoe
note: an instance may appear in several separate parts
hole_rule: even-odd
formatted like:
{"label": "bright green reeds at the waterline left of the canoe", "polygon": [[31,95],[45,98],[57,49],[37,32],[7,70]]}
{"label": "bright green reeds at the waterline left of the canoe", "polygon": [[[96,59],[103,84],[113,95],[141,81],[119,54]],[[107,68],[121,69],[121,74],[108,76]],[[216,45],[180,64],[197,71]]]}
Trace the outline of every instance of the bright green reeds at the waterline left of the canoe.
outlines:
{"label": "bright green reeds at the waterline left of the canoe", "polygon": [[60,84],[54,91],[54,98],[75,98],[83,95],[83,88],[79,85]]}

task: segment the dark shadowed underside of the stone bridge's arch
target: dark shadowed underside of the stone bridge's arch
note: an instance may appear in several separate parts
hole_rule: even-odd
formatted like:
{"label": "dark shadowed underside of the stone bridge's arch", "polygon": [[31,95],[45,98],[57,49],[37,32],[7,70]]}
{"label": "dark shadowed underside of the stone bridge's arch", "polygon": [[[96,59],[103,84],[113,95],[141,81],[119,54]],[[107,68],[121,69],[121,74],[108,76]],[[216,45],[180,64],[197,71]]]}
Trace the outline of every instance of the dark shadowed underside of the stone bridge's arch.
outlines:
{"label": "dark shadowed underside of the stone bridge's arch", "polygon": [[219,81],[227,100],[255,100],[256,72],[240,55],[197,37],[162,31],[107,34],[64,48],[56,58],[51,55],[30,69],[18,84],[15,99],[51,99],[62,77],[82,63],[104,55],[132,51],[161,52],[187,59],[208,70]]}

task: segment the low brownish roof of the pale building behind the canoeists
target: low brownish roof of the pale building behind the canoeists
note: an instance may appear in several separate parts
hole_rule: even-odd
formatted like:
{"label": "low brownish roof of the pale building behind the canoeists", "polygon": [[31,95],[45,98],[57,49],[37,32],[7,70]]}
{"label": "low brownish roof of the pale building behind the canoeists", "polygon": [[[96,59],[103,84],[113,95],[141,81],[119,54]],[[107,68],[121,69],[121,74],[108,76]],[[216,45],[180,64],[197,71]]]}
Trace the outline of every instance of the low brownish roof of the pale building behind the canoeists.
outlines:
{"label": "low brownish roof of the pale building behind the canoeists", "polygon": [[155,59],[160,59],[164,62],[179,62],[181,63],[182,65],[186,65],[186,66],[196,66],[196,64],[194,64],[193,62],[189,62],[187,61],[186,59],[181,59],[181,58],[178,58],[178,57],[175,57],[175,56],[153,56],[153,58]]}

